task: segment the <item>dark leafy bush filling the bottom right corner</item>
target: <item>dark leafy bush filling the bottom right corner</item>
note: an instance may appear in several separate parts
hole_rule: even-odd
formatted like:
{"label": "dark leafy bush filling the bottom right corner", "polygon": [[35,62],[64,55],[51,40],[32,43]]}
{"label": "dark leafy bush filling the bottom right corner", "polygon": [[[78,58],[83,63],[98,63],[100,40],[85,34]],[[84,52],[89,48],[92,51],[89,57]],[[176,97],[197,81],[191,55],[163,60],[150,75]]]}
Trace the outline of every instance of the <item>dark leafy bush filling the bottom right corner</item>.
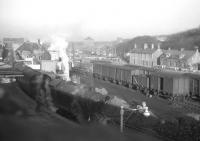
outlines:
{"label": "dark leafy bush filling the bottom right corner", "polygon": [[200,123],[189,117],[159,122],[154,126],[158,134],[176,141],[199,141]]}

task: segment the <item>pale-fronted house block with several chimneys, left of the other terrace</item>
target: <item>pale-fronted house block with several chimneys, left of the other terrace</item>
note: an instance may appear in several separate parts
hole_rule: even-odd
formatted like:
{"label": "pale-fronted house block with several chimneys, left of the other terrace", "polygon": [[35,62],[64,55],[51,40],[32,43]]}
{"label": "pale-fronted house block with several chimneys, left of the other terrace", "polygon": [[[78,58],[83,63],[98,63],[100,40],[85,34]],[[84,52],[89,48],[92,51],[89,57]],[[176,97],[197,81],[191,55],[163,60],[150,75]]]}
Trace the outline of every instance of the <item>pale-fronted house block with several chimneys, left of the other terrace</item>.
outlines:
{"label": "pale-fronted house block with several chimneys, left of the other terrace", "polygon": [[159,64],[158,58],[163,53],[160,45],[155,48],[154,44],[151,47],[144,44],[144,48],[137,48],[135,44],[134,49],[130,52],[130,64],[137,66],[153,67]]}

